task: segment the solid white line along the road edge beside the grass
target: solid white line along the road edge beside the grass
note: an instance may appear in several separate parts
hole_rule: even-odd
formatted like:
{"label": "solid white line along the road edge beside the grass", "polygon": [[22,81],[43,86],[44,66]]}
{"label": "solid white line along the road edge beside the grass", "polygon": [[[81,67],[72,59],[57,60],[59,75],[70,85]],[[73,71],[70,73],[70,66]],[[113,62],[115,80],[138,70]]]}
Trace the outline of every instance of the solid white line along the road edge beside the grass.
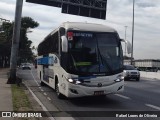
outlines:
{"label": "solid white line along the road edge beside the grass", "polygon": [[[26,84],[25,84],[26,85]],[[37,96],[32,92],[32,90],[26,85],[27,89],[30,91],[34,99],[41,105],[43,111],[48,111],[47,108],[43,105],[43,103],[37,98]],[[48,116],[51,116],[49,113],[47,113]],[[53,117],[49,117],[50,120],[55,120]]]}

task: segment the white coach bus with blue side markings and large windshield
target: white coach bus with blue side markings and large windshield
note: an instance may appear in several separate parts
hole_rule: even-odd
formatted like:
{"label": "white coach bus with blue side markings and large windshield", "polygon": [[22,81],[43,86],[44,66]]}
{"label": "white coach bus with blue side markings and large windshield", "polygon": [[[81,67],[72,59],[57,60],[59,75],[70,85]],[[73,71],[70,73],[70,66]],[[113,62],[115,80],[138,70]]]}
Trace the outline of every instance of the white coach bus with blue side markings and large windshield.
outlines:
{"label": "white coach bus with blue side markings and large windshield", "polygon": [[[105,96],[124,89],[123,51],[111,27],[65,22],[38,45],[37,72],[41,85],[58,98]],[[126,42],[128,43],[128,42]],[[131,51],[130,44],[127,44]]]}

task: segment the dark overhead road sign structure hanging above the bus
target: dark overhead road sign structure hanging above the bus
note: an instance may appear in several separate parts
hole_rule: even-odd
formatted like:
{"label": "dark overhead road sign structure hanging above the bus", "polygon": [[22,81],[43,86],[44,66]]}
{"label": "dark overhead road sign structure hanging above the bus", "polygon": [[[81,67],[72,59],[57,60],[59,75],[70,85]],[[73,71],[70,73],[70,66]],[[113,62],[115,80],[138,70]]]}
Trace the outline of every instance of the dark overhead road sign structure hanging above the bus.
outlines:
{"label": "dark overhead road sign structure hanging above the bus", "polygon": [[107,0],[26,0],[26,2],[59,7],[62,13],[106,19]]}

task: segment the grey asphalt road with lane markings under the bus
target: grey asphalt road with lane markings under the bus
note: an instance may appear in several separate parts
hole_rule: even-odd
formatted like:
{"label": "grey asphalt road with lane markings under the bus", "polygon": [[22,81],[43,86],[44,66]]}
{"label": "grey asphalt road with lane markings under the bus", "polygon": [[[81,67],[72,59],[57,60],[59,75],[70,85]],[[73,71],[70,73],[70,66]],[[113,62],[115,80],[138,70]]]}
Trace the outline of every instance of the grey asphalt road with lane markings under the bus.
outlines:
{"label": "grey asphalt road with lane markings under the bus", "polygon": [[[160,119],[154,117],[132,118],[132,116],[127,118],[125,116],[125,118],[121,118],[120,116],[118,118],[108,117],[109,115],[115,114],[115,112],[121,115],[121,111],[124,111],[124,113],[122,113],[124,115],[127,111],[131,111],[131,113],[129,113],[130,115],[137,115],[136,111],[160,112],[160,80],[141,78],[138,82],[125,81],[125,90],[123,93],[107,95],[104,98],[84,97],[60,100],[52,88],[40,86],[40,80],[37,78],[37,73],[34,68],[32,70],[19,69],[18,75],[36,95],[47,111],[58,111],[57,113],[53,113],[56,117],[66,117],[71,114],[76,120]],[[145,112],[144,114],[146,114]],[[150,114],[153,115],[154,113]]]}

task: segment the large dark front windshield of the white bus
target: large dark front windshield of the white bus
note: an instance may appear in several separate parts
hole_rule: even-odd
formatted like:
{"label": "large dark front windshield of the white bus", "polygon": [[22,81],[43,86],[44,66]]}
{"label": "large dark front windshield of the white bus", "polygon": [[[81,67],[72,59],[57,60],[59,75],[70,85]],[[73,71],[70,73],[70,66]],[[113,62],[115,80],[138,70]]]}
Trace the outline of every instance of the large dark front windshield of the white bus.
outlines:
{"label": "large dark front windshield of the white bus", "polygon": [[122,49],[116,33],[73,32],[68,58],[68,70],[73,74],[111,75],[123,70]]}

